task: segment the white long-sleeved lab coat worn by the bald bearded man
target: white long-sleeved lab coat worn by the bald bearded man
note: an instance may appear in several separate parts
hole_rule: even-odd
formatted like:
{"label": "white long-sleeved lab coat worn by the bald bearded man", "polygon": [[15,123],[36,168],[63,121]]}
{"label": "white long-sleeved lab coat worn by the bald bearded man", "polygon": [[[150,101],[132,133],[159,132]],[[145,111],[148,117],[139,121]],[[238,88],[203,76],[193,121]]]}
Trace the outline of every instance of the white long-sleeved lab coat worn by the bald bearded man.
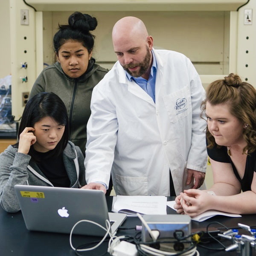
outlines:
{"label": "white long-sleeved lab coat worn by the bald bearded man", "polygon": [[116,195],[166,195],[169,170],[176,195],[187,169],[206,171],[206,121],[200,118],[205,91],[183,54],[154,50],[155,103],[119,61],[93,89],[87,124],[86,181],[109,183]]}

